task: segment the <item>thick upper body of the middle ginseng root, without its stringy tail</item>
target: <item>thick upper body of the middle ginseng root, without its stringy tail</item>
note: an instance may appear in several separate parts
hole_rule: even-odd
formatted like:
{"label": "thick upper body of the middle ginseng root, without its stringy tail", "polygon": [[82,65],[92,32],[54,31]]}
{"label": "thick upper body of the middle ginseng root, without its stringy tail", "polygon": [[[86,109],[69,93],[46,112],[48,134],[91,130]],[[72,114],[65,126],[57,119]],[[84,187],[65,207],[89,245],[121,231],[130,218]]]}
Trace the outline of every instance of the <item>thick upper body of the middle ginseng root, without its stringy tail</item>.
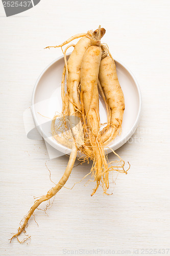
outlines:
{"label": "thick upper body of the middle ginseng root, without its stringy tail", "polygon": [[86,51],[81,68],[81,90],[87,125],[94,136],[98,136],[100,127],[98,74],[102,50],[97,46],[90,46]]}

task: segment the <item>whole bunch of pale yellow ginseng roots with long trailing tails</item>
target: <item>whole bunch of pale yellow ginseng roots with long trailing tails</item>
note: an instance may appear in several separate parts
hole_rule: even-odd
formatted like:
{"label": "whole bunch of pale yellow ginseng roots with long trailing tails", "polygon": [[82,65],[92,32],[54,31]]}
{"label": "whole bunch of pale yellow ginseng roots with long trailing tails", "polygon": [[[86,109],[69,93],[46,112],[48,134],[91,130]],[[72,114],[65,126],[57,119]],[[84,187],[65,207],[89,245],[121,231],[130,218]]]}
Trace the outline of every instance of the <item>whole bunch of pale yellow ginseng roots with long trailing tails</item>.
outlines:
{"label": "whole bunch of pale yellow ginseng roots with long trailing tails", "polygon": [[[65,66],[61,81],[62,113],[54,116],[51,125],[53,137],[71,148],[71,153],[65,172],[58,184],[52,187],[45,196],[34,202],[24,218],[23,224],[18,228],[18,232],[10,239],[10,243],[13,238],[19,241],[19,234],[26,232],[28,221],[34,215],[37,207],[42,202],[54,197],[65,185],[78,152],[84,154],[82,156],[83,161],[93,161],[89,174],[92,174],[96,184],[91,196],[95,194],[100,185],[103,187],[103,193],[108,195],[110,171],[117,170],[127,174],[124,169],[125,162],[114,151],[113,153],[119,158],[119,162],[112,161],[109,163],[105,154],[105,147],[122,128],[125,100],[118,82],[114,60],[109,49],[101,45],[101,38],[104,34],[105,29],[99,26],[94,32],[90,30],[87,33],[77,34],[64,41],[63,44],[54,47],[61,47],[62,49],[72,40],[81,37],[76,45],[67,46],[63,52]],[[71,46],[74,47],[74,50],[68,58],[66,51]],[[107,110],[108,122],[102,131],[100,131],[98,87]],[[56,124],[57,120],[58,124]],[[113,165],[113,163],[115,164]]]}

